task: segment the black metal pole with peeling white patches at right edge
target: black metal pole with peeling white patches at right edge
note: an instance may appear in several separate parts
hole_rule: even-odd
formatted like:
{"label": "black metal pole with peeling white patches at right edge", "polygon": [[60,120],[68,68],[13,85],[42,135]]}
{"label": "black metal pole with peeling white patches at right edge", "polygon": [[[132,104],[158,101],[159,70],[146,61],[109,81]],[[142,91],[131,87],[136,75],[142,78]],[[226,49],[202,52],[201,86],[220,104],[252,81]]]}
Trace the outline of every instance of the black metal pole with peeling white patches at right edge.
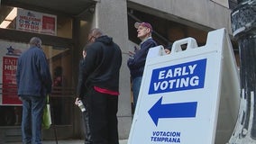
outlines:
{"label": "black metal pole with peeling white patches at right edge", "polygon": [[238,0],[231,14],[240,54],[240,112],[229,144],[256,143],[256,0]]}

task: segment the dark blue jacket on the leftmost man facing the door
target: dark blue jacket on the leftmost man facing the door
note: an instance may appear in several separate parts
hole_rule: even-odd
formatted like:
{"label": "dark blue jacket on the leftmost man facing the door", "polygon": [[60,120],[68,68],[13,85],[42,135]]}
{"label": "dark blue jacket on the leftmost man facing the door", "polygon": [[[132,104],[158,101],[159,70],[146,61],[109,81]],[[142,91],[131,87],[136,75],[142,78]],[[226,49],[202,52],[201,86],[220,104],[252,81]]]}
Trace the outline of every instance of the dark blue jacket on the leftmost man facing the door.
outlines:
{"label": "dark blue jacket on the leftmost man facing the door", "polygon": [[42,49],[32,47],[18,58],[16,82],[18,95],[50,94],[52,81],[48,61]]}

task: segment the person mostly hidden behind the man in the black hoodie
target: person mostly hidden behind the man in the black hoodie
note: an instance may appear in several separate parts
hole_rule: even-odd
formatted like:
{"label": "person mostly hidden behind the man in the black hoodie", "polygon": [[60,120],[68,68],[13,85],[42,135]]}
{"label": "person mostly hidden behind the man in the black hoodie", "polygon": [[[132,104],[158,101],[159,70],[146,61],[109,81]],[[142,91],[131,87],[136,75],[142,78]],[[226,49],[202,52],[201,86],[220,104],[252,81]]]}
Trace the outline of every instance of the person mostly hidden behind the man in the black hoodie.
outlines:
{"label": "person mostly hidden behind the man in the black hoodie", "polygon": [[[89,43],[88,43],[89,44]],[[86,45],[83,49],[83,52],[82,52],[82,55],[83,55],[83,58],[80,60],[79,62],[79,74],[78,74],[78,79],[81,78],[81,76],[83,75],[83,71],[82,71],[82,68],[83,67],[86,67],[84,66],[85,65],[85,58],[87,56],[87,46]],[[78,82],[82,82],[82,81],[78,81]],[[81,85],[81,86],[78,86],[78,87],[82,87],[84,88],[84,91],[83,93],[81,93],[81,96],[80,98],[77,97],[76,98],[76,102],[75,104],[78,105],[79,101],[81,101],[84,106],[86,107],[86,110],[84,112],[82,112],[82,116],[83,116],[83,126],[84,126],[84,133],[85,133],[85,144],[90,144],[92,143],[92,136],[91,136],[91,131],[90,131],[90,128],[89,128],[89,118],[88,118],[88,111],[87,111],[87,96],[85,95],[86,93],[86,83],[82,83],[82,84],[79,84],[78,85]],[[78,89],[78,93],[79,93],[79,89]]]}

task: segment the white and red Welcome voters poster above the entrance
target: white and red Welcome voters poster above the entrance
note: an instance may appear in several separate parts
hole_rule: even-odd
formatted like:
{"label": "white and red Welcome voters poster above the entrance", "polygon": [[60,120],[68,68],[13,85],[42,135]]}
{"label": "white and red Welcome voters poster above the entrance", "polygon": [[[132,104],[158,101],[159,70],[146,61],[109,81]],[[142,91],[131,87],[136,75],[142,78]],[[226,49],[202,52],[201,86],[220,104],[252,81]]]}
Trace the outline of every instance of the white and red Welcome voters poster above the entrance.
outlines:
{"label": "white and red Welcome voters poster above the entrance", "polygon": [[42,14],[21,8],[17,10],[16,30],[56,35],[56,23],[56,15]]}

